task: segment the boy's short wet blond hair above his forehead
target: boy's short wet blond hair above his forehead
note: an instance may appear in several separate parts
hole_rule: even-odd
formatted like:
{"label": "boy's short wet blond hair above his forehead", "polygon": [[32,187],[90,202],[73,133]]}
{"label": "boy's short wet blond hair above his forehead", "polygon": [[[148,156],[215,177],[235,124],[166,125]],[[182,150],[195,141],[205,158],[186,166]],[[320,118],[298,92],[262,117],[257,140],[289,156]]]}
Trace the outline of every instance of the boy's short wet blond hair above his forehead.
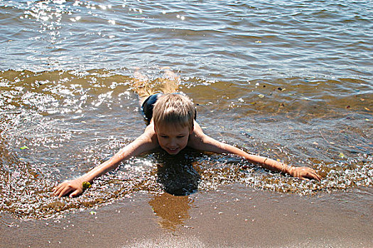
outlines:
{"label": "boy's short wet blond hair above his forehead", "polygon": [[158,98],[153,108],[154,125],[181,125],[193,130],[195,108],[183,94],[165,94]]}

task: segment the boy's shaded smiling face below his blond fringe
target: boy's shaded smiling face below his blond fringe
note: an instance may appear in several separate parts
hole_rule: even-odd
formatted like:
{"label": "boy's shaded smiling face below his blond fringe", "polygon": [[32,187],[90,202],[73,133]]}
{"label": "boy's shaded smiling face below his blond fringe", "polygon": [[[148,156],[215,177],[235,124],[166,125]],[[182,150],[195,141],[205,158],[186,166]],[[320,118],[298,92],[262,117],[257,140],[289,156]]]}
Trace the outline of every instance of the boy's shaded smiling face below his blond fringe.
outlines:
{"label": "boy's shaded smiling face below his blond fringe", "polygon": [[188,145],[189,135],[192,132],[188,127],[174,124],[159,125],[159,127],[155,125],[154,130],[159,146],[171,155],[178,154]]}

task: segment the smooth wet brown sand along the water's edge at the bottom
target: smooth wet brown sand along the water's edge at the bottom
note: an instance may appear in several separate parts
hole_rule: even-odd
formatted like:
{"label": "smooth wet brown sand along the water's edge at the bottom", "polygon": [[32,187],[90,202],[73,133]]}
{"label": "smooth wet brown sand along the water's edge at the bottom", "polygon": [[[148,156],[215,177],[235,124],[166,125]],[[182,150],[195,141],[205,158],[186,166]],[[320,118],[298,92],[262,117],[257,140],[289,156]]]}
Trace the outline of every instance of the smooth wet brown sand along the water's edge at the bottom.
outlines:
{"label": "smooth wet brown sand along the water's edge at the bottom", "polygon": [[298,196],[242,185],[189,197],[138,193],[59,220],[1,214],[0,246],[373,247],[372,196],[372,188]]}

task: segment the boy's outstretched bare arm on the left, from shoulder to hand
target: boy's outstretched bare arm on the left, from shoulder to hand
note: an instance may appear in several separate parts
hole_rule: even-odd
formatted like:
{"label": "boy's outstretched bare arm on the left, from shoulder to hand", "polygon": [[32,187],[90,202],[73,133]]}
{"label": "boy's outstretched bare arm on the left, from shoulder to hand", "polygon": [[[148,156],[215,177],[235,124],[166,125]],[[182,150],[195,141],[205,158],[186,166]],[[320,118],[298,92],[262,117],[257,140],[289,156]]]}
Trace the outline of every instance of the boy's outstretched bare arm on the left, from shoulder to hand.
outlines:
{"label": "boy's outstretched bare arm on the left, from shoulder to hand", "polygon": [[79,196],[84,191],[82,185],[83,182],[87,181],[92,183],[92,181],[97,177],[116,169],[123,160],[153,150],[156,147],[158,147],[158,142],[154,133],[154,127],[151,124],[146,127],[146,130],[142,135],[137,137],[136,140],[131,142],[129,145],[126,145],[126,147],[119,150],[119,152],[114,154],[114,156],[109,160],[94,167],[92,170],[77,179],[65,181],[59,184],[53,189],[53,194],[58,197],[65,195],[70,195],[70,197]]}

